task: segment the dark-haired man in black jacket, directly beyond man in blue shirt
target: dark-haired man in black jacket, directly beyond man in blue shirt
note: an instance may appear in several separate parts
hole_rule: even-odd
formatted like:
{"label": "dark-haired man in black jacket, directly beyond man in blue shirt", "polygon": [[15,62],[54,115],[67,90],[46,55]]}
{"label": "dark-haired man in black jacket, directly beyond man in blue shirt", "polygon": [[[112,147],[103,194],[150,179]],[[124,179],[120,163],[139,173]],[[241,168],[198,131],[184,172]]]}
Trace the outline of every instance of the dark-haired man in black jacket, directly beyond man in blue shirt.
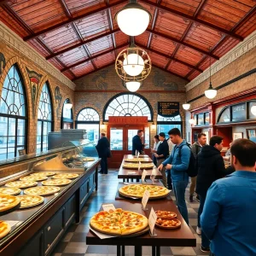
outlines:
{"label": "dark-haired man in black jacket, directly beyond man in blue shirt", "polygon": [[210,251],[210,241],[207,239],[204,232],[201,231],[200,219],[207,198],[207,190],[211,187],[214,181],[225,175],[224,160],[220,154],[220,151],[223,148],[223,137],[212,136],[209,143],[210,145],[201,148],[201,152],[197,154],[195,164],[198,171],[195,192],[200,197],[196,233],[201,235],[202,252]]}

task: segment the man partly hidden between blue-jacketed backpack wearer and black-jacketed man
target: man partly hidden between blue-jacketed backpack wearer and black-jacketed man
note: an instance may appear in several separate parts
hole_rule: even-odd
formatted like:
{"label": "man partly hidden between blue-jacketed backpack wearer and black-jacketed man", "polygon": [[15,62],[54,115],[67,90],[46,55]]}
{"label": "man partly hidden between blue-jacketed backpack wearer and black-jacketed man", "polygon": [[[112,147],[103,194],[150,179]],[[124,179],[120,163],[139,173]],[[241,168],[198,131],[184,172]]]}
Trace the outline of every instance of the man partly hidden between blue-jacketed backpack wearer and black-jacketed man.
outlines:
{"label": "man partly hidden between blue-jacketed backpack wearer and black-jacketed man", "polygon": [[[194,157],[196,159],[197,154],[201,151],[201,148],[207,144],[207,135],[205,133],[198,133],[197,134],[197,141],[191,146],[191,152],[194,154]],[[196,176],[191,177],[191,184],[189,187],[189,201],[193,202],[193,196],[195,193],[195,185],[196,185]],[[196,195],[195,199],[197,201],[200,201],[200,198],[198,195]]]}

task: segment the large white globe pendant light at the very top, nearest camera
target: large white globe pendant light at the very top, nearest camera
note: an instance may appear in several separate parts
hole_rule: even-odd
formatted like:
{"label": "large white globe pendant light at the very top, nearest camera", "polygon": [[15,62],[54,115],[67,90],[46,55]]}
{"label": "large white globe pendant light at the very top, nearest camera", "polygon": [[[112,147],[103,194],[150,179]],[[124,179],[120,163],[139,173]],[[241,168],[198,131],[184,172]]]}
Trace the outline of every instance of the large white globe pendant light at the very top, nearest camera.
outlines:
{"label": "large white globe pendant light at the very top, nearest camera", "polygon": [[124,8],[120,9],[114,15],[118,26],[122,32],[128,36],[138,36],[142,34],[148,27],[151,20],[151,14],[137,0],[130,0]]}

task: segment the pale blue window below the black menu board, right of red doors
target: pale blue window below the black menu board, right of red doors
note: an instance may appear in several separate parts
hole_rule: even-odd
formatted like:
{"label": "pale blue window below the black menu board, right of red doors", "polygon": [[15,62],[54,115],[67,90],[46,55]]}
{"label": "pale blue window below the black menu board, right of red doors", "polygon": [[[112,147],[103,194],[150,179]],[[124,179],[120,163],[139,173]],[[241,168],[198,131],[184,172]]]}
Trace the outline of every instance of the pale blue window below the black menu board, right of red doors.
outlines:
{"label": "pale blue window below the black menu board, right of red doors", "polygon": [[163,117],[160,114],[157,116],[157,134],[165,132],[166,138],[168,138],[168,131],[172,128],[177,128],[183,134],[183,122],[180,114],[173,117]]}

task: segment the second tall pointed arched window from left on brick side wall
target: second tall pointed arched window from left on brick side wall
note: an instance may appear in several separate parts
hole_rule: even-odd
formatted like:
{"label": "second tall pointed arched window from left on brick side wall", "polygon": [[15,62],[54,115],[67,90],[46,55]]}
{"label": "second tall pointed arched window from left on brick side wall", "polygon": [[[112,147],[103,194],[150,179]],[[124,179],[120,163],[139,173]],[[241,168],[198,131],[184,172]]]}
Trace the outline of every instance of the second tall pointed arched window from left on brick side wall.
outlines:
{"label": "second tall pointed arched window from left on brick side wall", "polygon": [[52,101],[49,84],[45,83],[38,105],[37,153],[48,150],[48,133],[53,127]]}

